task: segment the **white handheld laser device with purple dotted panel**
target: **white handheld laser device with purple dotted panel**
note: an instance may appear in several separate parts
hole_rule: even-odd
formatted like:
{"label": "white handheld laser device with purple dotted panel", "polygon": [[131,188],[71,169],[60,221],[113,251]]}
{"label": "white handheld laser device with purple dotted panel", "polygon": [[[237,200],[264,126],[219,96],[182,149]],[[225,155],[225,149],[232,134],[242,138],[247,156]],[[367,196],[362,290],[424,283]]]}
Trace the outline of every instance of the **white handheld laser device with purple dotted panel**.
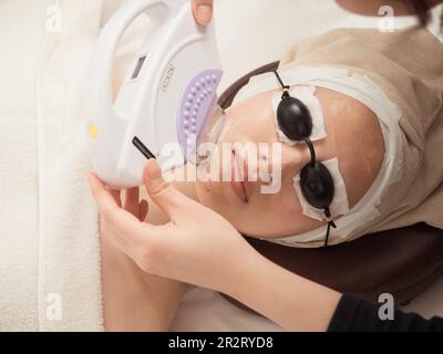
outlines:
{"label": "white handheld laser device with purple dotted panel", "polygon": [[[154,22],[115,102],[112,75],[123,33],[142,13]],[[188,0],[133,0],[104,27],[89,71],[87,139],[94,170],[111,188],[143,184],[147,158],[178,167],[217,111],[223,72],[214,23],[195,22]],[[179,158],[172,158],[178,146]]]}

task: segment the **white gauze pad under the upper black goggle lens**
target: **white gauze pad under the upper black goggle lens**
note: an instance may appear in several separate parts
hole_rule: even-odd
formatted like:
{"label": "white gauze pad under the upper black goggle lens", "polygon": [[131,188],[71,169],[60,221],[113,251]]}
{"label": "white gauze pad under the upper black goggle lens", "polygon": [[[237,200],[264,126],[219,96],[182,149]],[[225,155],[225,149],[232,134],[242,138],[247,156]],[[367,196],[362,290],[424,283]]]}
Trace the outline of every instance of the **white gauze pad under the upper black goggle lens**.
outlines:
{"label": "white gauze pad under the upper black goggle lens", "polygon": [[[300,100],[308,108],[312,117],[312,134],[310,139],[312,142],[323,139],[328,136],[324,129],[324,117],[321,111],[320,101],[316,97],[316,87],[313,86],[297,86],[290,90],[290,95]],[[276,131],[278,138],[281,143],[288,145],[305,144],[303,142],[295,142],[288,138],[284,132],[281,132],[280,126],[277,121],[277,108],[281,102],[281,92],[276,93],[272,96],[272,112],[276,121]]]}

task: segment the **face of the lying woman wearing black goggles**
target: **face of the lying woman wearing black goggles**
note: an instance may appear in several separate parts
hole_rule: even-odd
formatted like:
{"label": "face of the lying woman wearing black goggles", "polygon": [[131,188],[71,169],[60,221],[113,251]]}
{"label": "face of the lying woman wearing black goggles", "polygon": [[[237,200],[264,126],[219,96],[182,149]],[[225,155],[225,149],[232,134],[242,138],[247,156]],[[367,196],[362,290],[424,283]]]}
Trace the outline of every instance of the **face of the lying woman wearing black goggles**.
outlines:
{"label": "face of the lying woman wearing black goggles", "polygon": [[[223,169],[225,174],[226,169],[227,174],[230,174],[235,164],[244,164],[245,170],[251,169],[249,163],[256,164],[254,167],[259,165],[260,168],[265,164],[269,171],[279,168],[281,187],[278,192],[264,194],[261,187],[271,183],[248,180],[246,176],[243,183],[196,183],[197,196],[202,204],[223,215],[240,232],[257,238],[280,238],[326,225],[326,221],[302,215],[292,178],[308,164],[310,153],[305,144],[290,146],[280,143],[271,105],[271,97],[276,92],[254,96],[226,112],[227,128],[220,137],[218,150],[225,153],[225,158],[226,154],[231,158],[225,159],[222,153],[222,158],[213,158],[209,166],[203,168],[219,170],[219,180],[223,180]],[[383,159],[384,144],[379,122],[369,108],[351,97],[326,88],[317,88],[316,96],[323,112],[328,134],[327,138],[315,142],[317,159],[339,159],[349,205],[352,207],[371,186]],[[281,144],[281,164],[259,154],[249,162],[248,158],[243,158],[238,150],[224,150],[224,143],[249,143],[249,146],[253,143],[257,147],[260,143]],[[257,148],[257,152],[259,150]],[[233,160],[234,164],[220,163],[222,160]]]}

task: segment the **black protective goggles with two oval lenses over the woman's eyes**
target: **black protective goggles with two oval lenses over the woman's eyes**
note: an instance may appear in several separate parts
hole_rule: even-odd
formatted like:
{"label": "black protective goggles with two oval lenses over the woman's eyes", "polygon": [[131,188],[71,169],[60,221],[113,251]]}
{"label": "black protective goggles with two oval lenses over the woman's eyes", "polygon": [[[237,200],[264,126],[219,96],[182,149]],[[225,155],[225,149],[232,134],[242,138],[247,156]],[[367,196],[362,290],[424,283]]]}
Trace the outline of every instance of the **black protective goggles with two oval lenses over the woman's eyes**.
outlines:
{"label": "black protective goggles with two oval lenses over the woman's eyes", "polygon": [[[266,72],[274,72],[277,76],[284,93],[281,102],[277,107],[277,122],[281,132],[291,140],[303,142],[310,152],[311,160],[300,171],[300,189],[305,199],[315,208],[323,210],[326,218],[331,217],[330,205],[334,196],[333,178],[329,169],[317,160],[316,149],[310,139],[312,134],[312,117],[308,107],[296,97],[290,96],[289,88],[284,84],[277,72],[279,62],[261,66],[247,74],[231,85],[219,100],[222,108],[229,107],[236,94],[244,87],[249,80]],[[330,229],[337,228],[333,221],[328,221],[324,247],[328,246]]]}

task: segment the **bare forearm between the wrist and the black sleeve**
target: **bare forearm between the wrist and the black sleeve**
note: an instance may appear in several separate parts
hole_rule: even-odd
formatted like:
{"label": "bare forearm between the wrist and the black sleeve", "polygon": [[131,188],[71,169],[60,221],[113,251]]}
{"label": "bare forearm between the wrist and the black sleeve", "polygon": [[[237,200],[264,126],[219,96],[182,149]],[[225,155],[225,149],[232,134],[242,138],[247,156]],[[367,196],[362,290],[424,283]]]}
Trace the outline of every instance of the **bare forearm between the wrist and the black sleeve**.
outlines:
{"label": "bare forearm between the wrist and the black sleeve", "polygon": [[288,331],[326,331],[341,294],[268,261],[254,249],[233,260],[222,291]]}

